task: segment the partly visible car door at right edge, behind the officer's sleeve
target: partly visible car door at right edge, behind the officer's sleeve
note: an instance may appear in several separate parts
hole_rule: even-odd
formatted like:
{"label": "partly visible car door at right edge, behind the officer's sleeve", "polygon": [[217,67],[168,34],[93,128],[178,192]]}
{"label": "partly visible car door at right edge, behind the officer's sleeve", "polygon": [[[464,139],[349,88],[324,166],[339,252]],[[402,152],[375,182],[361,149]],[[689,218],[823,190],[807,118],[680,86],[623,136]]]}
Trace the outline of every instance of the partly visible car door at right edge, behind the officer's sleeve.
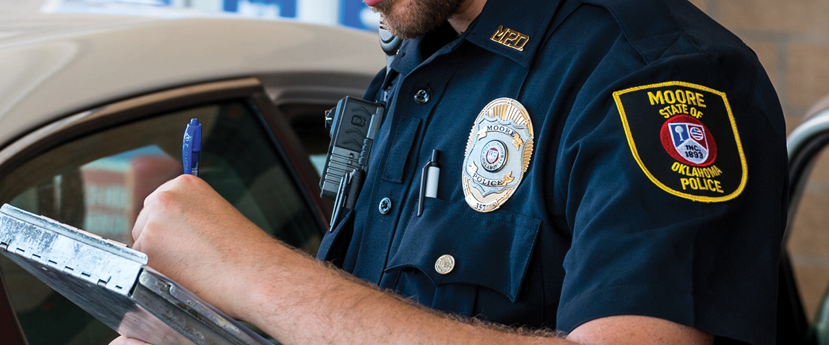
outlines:
{"label": "partly visible car door at right edge, behind the officer's sleeve", "polygon": [[778,343],[829,343],[829,108],[788,136],[789,212],[778,294]]}

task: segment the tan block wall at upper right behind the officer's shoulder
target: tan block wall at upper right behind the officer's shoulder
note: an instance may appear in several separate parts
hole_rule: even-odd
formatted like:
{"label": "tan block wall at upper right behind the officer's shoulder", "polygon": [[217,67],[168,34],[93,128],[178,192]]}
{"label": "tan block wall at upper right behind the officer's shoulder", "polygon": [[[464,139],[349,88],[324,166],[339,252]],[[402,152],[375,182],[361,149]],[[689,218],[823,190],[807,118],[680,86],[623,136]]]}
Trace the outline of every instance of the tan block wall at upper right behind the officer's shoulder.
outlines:
{"label": "tan block wall at upper right behind the officer's shoulder", "polygon": [[780,96],[789,131],[829,95],[829,1],[691,2],[757,53]]}

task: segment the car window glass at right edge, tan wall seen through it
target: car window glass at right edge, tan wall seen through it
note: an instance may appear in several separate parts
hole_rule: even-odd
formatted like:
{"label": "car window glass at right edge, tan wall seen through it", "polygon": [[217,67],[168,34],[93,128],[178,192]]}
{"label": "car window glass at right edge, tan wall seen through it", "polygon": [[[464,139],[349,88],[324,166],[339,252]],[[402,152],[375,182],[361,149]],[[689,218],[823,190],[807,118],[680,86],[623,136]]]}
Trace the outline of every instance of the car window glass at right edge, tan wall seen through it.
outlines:
{"label": "car window glass at right edge, tan wall seen through it", "polygon": [[829,150],[812,160],[789,228],[788,252],[807,318],[814,320],[829,287]]}

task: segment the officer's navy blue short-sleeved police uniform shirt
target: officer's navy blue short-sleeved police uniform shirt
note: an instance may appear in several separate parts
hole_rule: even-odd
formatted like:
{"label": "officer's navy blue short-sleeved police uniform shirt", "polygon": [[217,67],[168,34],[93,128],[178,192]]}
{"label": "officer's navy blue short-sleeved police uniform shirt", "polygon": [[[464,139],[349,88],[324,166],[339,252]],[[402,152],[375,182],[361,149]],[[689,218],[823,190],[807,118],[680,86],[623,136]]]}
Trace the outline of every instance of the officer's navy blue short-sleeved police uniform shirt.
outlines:
{"label": "officer's navy blue short-sleeved police uniform shirt", "polygon": [[[507,325],[570,332],[632,314],[774,342],[783,114],[754,53],[691,3],[489,0],[460,36],[443,26],[405,41],[391,69],[366,93],[390,84],[366,186],[318,257]],[[531,143],[488,150],[529,143],[531,156],[505,176],[520,180],[506,201],[478,212],[464,161],[498,98],[526,109]],[[437,198],[417,216],[435,149]]]}

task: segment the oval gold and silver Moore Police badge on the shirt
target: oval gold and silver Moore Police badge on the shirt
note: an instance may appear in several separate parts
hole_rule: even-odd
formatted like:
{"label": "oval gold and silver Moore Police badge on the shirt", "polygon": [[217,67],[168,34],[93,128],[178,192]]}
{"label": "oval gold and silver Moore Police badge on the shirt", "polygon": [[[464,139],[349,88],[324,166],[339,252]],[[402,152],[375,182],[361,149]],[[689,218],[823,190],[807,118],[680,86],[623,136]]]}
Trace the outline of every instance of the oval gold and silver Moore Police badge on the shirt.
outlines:
{"label": "oval gold and silver Moore Police badge on the shirt", "polygon": [[463,158],[463,194],[478,212],[501,207],[515,192],[532,156],[532,122],[524,106],[498,98],[483,108],[469,132]]}

